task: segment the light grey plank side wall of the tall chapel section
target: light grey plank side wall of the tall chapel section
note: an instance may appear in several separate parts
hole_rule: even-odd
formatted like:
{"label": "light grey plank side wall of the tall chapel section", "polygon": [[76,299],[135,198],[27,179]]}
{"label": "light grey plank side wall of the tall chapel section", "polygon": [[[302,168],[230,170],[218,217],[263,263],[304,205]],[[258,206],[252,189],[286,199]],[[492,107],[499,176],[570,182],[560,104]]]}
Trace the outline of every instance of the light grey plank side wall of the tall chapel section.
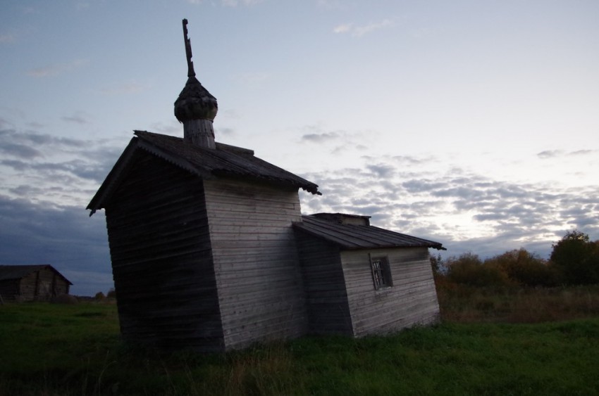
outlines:
{"label": "light grey plank side wall of the tall chapel section", "polygon": [[297,189],[204,181],[218,302],[228,349],[301,336],[306,312],[291,223]]}

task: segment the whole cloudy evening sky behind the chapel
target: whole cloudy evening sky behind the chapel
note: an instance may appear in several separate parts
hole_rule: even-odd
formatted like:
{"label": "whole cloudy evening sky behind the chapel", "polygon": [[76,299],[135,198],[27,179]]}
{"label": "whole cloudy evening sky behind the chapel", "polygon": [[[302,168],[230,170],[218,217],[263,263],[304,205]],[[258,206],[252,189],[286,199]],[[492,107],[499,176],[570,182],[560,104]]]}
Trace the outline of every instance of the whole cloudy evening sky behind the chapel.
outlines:
{"label": "whole cloudy evening sky behind the chapel", "polygon": [[[112,286],[87,203],[133,129],[183,136],[197,77],[216,140],[445,255],[599,239],[599,1],[2,1],[0,264]],[[433,251],[436,253],[436,251]]]}

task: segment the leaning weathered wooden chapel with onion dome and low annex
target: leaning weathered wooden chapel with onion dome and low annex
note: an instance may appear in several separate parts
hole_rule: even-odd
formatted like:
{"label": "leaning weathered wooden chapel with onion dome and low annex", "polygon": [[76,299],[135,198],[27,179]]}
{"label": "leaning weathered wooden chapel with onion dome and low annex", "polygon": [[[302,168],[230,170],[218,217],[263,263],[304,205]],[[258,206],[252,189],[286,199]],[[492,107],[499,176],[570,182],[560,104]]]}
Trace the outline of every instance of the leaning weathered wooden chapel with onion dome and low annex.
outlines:
{"label": "leaning weathered wooden chapel with onion dome and low annex", "polygon": [[[183,138],[136,131],[87,206],[106,212],[123,338],[223,351],[434,321],[428,248],[440,243],[376,229],[360,216],[344,217],[361,222],[354,236],[326,236],[327,221],[338,235],[349,225],[302,217],[298,190],[320,195],[316,184],[216,143],[218,106],[195,77],[186,23],[188,79],[175,101]],[[377,260],[387,260],[383,270],[371,269]],[[379,311],[370,321],[369,309]]]}

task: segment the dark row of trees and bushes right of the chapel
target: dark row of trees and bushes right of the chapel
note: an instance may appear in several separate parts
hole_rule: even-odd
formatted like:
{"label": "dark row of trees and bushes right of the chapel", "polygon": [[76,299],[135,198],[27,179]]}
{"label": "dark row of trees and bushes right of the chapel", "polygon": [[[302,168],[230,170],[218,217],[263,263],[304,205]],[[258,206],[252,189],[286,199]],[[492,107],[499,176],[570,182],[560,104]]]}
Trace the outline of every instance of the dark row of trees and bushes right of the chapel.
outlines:
{"label": "dark row of trees and bushes right of the chapel", "polygon": [[510,250],[481,260],[478,255],[464,253],[443,260],[431,256],[437,283],[468,286],[552,287],[599,283],[599,240],[574,230],[552,244],[549,260],[524,248]]}

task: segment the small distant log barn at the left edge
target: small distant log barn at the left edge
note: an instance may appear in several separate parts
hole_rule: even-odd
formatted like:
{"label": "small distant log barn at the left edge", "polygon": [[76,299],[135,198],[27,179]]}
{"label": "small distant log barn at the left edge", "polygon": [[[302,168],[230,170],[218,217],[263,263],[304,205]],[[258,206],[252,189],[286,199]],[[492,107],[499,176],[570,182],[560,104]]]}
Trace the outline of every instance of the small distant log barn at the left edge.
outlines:
{"label": "small distant log barn at the left edge", "polygon": [[48,264],[0,265],[0,297],[3,301],[49,301],[68,294],[70,283]]}

